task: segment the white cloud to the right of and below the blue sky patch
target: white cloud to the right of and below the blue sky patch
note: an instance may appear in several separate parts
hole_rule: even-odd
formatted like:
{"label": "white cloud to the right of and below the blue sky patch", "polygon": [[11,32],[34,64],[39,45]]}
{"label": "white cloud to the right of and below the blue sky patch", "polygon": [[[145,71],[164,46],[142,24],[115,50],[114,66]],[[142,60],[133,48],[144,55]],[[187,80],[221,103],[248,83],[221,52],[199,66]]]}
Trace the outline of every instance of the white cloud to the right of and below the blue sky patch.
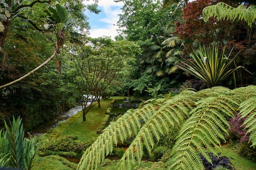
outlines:
{"label": "white cloud to the right of and below the blue sky patch", "polygon": [[[92,4],[93,0],[84,1],[84,4]],[[101,18],[99,21],[104,22],[104,26],[95,28],[95,26],[91,25],[93,29],[90,30],[90,37],[98,38],[103,35],[111,36],[112,39],[115,38],[117,33],[117,22],[119,20],[118,14],[122,12],[121,7],[124,5],[123,2],[114,2],[114,0],[99,0],[99,7],[102,9],[101,13],[104,13],[105,16]]]}

